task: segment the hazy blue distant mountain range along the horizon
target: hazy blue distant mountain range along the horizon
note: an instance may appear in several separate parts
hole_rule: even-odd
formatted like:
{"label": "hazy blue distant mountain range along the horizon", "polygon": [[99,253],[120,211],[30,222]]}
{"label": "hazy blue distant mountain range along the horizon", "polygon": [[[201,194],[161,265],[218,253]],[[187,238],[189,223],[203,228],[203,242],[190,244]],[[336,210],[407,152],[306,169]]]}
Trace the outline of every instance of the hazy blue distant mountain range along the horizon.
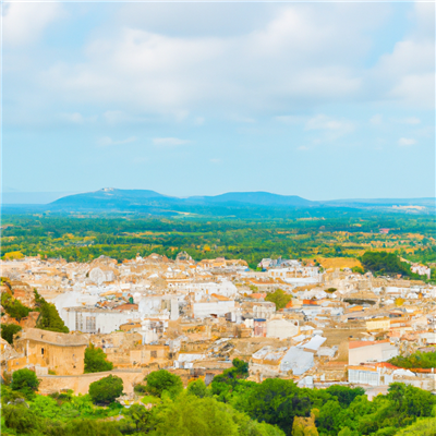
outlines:
{"label": "hazy blue distant mountain range along the horizon", "polygon": [[61,197],[45,206],[52,211],[137,211],[152,215],[281,215],[302,209],[390,209],[392,211],[429,213],[435,198],[335,199],[315,202],[296,195],[268,192],[230,192],[215,196],[173,197],[148,190],[105,187],[84,194]]}

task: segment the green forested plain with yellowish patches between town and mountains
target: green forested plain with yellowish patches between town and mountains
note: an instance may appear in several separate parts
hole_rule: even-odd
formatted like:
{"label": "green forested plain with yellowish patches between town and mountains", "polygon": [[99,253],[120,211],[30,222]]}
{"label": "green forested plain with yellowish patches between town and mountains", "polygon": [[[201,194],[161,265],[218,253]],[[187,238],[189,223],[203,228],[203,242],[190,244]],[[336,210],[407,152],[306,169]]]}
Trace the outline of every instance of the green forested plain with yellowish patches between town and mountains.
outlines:
{"label": "green forested plain with yellowish patches between town and mountains", "polygon": [[[379,232],[389,229],[388,234]],[[40,254],[69,262],[100,255],[122,262],[150,253],[175,258],[242,258],[256,268],[263,257],[360,257],[367,251],[436,263],[435,220],[428,215],[304,214],[289,219],[195,219],[123,216],[3,216],[0,257]]]}

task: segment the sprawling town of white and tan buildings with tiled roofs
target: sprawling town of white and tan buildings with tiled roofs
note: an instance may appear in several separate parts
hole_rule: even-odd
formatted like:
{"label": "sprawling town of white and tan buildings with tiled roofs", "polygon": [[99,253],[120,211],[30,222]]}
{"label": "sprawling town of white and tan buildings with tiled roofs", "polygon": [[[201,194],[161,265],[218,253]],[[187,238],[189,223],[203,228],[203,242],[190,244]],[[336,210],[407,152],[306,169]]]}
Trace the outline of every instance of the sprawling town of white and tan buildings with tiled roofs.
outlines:
{"label": "sprawling town of white and tan buildings with tiled roofs", "polygon": [[[259,267],[250,270],[242,259],[194,262],[186,253],[121,264],[105,256],[86,264],[4,261],[2,276],[14,295],[32,306],[36,289],[70,334],[35,328],[38,314],[31,312],[13,346],[0,343],[0,371],[81,377],[93,343],[126,374],[170,368],[186,379],[211,379],[238,358],[250,362],[255,382],[351,384],[374,395],[403,382],[436,392],[436,370],[387,363],[436,350],[435,287],[347,268],[320,272],[299,261],[263,259]],[[292,295],[279,311],[268,301],[277,289]],[[3,314],[0,323],[16,322]]]}

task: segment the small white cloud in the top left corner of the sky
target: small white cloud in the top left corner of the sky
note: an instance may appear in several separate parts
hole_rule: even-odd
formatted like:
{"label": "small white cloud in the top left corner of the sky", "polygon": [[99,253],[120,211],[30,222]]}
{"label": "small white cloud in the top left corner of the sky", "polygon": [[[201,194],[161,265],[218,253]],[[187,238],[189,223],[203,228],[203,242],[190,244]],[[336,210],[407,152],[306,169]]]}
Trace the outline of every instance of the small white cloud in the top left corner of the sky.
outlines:
{"label": "small white cloud in the top left corner of the sky", "polygon": [[50,23],[63,15],[59,1],[5,1],[2,11],[3,44],[7,46],[35,43]]}

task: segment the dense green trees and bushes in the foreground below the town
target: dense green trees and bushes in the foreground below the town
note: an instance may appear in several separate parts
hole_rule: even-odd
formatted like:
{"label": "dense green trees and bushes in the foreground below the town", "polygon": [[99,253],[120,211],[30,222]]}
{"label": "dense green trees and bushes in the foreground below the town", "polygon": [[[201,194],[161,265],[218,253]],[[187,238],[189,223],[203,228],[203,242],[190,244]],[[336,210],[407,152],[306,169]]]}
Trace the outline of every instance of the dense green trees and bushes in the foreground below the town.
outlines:
{"label": "dense green trees and bushes in the foreground below the town", "polygon": [[150,373],[135,387],[144,395],[141,402],[126,408],[114,401],[122,392],[116,376],[93,383],[89,395],[45,397],[34,393],[35,376],[16,373],[10,387],[0,387],[0,435],[436,435],[436,397],[399,383],[368,401],[362,388],[306,389],[278,378],[247,382],[247,364],[234,360],[208,387],[198,379],[183,389],[177,375]]}

